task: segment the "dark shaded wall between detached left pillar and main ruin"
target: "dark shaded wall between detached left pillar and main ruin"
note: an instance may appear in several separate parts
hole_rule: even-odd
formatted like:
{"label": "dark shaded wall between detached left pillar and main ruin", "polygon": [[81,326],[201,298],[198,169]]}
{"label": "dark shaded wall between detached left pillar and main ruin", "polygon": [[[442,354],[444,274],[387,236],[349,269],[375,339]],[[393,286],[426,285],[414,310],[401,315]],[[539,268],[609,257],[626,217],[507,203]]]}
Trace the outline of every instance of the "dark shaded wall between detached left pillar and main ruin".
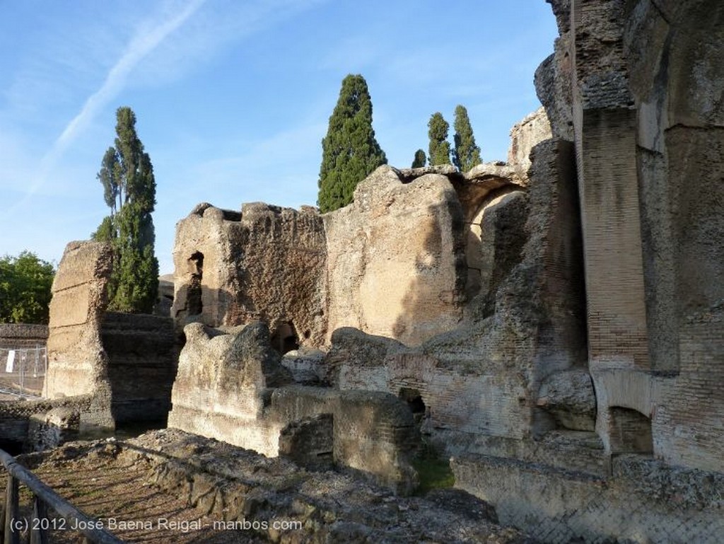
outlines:
{"label": "dark shaded wall between detached left pillar and main ruin", "polygon": [[176,377],[170,317],[108,312],[101,325],[117,423],[166,419]]}

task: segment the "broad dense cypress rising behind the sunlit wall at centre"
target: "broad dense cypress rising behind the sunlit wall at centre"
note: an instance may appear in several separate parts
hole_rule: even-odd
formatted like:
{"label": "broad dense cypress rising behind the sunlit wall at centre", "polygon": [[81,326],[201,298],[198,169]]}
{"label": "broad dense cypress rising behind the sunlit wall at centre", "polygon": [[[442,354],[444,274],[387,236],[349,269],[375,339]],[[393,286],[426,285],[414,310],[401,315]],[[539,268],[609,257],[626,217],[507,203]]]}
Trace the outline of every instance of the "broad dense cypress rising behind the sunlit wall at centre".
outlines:
{"label": "broad dense cypress rising behind the sunlit wall at centre", "polygon": [[372,101],[361,75],[342,80],[340,98],[321,141],[317,204],[322,213],[350,204],[355,187],[387,157],[374,137]]}

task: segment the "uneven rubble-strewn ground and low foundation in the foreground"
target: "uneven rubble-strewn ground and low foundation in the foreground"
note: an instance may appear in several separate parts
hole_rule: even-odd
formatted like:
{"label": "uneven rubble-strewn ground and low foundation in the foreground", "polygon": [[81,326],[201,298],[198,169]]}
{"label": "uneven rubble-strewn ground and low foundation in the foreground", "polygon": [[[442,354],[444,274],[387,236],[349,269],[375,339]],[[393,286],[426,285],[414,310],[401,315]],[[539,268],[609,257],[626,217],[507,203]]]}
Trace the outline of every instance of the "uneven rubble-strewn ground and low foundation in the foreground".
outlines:
{"label": "uneven rubble-strewn ground and low foundation in the foreground", "polygon": [[[129,542],[175,542],[181,536],[183,543],[535,543],[490,521],[494,509],[461,490],[403,498],[349,471],[308,471],[286,459],[267,459],[178,430],[149,432],[117,443],[71,443],[22,456],[20,462],[41,474],[60,466],[64,472],[103,479],[114,490],[127,489],[127,493],[140,495],[142,487],[162,490],[167,501],[170,497],[182,501],[174,501],[172,511],[161,510],[160,516],[169,522],[201,519],[204,527],[195,531],[192,526],[188,533],[161,532],[156,516],[140,516],[139,503],[123,509],[125,492],[96,494],[97,501],[85,503],[85,511],[103,519],[115,515],[119,521],[153,521],[150,531],[119,534]],[[118,485],[118,474],[127,474],[126,487]],[[93,489],[79,488],[77,480],[63,477],[64,489],[86,493]],[[244,522],[256,526],[243,528]],[[285,525],[273,527],[273,522]],[[212,524],[226,530],[214,530]]]}

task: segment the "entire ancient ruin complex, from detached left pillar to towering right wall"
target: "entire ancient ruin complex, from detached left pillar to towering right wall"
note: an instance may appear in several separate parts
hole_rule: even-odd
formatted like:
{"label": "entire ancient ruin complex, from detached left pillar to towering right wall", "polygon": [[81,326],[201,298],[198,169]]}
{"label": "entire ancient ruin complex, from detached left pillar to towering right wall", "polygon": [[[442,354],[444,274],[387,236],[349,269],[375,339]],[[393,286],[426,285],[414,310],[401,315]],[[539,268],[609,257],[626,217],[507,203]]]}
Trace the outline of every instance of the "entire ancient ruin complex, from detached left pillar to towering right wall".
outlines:
{"label": "entire ancient ruin complex, from detached left pillar to towering right wall", "polygon": [[95,398],[101,426],[146,399],[169,427],[398,493],[437,451],[542,542],[720,542],[724,4],[549,3],[544,109],[508,164],[384,166],[328,214],[179,222],[170,393],[171,374],[132,380],[155,393],[114,374],[132,327],[103,325],[105,250],[69,246],[47,396]]}

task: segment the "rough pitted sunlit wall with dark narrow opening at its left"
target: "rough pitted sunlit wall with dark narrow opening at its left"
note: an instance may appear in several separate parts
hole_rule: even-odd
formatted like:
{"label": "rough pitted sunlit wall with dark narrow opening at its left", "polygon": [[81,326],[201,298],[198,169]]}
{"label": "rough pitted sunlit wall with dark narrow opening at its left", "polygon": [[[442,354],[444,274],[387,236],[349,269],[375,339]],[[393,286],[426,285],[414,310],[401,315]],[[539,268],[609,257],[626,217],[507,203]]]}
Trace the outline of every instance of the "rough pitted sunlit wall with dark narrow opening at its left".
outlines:
{"label": "rough pitted sunlit wall with dark narrow opening at its left", "polygon": [[180,327],[193,320],[216,327],[262,319],[272,333],[291,331],[288,348],[321,346],[325,262],[324,228],[314,208],[253,203],[239,213],[200,204],[177,225],[172,317]]}

